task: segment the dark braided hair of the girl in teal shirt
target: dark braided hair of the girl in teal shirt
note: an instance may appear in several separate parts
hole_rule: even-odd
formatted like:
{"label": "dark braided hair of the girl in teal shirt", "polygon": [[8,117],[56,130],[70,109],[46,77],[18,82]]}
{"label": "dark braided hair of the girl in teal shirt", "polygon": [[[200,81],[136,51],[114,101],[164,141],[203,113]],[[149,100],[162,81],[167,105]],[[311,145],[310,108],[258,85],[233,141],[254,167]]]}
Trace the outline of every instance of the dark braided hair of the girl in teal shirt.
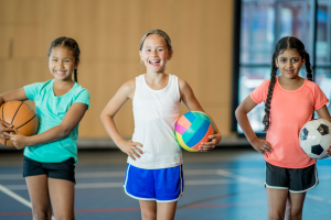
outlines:
{"label": "dark braided hair of the girl in teal shirt", "polygon": [[[58,38],[55,38],[51,43],[50,51],[49,51],[49,57],[51,56],[53,48],[57,47],[57,46],[65,47],[65,48],[70,50],[71,52],[73,52],[73,56],[75,57],[75,63],[79,62],[81,50],[75,40],[73,40],[71,37],[66,37],[66,36],[61,36]],[[76,82],[78,82],[77,68],[74,70],[74,80]]]}

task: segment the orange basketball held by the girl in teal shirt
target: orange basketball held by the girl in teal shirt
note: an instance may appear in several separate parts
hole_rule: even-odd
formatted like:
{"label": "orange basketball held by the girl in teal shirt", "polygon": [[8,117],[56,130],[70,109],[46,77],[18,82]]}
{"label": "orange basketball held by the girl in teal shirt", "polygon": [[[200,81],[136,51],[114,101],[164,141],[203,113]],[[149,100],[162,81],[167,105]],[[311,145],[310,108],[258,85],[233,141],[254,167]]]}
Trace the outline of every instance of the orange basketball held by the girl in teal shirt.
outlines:
{"label": "orange basketball held by the girl in teal shirt", "polygon": [[[17,134],[26,136],[38,131],[39,121],[33,108],[23,101],[8,101],[0,107],[0,120],[13,125]],[[14,146],[10,140],[0,139],[6,146]]]}

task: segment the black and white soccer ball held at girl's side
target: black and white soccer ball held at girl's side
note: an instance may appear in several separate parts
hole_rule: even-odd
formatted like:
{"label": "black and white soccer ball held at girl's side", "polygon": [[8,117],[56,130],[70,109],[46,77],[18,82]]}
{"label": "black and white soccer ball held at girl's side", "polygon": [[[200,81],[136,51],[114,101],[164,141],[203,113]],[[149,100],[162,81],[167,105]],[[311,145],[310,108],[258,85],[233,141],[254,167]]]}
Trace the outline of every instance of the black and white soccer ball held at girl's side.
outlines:
{"label": "black and white soccer ball held at girl's side", "polygon": [[307,122],[300,133],[301,148],[311,158],[325,158],[325,150],[331,145],[331,122],[325,119],[316,119]]}

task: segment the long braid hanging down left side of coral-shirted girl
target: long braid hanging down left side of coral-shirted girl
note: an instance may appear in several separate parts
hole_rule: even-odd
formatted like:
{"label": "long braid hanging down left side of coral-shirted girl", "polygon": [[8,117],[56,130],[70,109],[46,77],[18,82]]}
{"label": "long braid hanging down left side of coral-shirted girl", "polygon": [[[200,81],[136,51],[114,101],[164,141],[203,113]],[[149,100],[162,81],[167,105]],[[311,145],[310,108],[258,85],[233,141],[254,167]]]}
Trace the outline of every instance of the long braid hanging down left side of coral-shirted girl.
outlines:
{"label": "long braid hanging down left side of coral-shirted girl", "polygon": [[267,100],[265,103],[265,117],[263,120],[263,124],[265,125],[264,131],[267,131],[269,129],[270,125],[270,103],[271,103],[271,98],[273,98],[273,94],[274,94],[274,88],[275,88],[275,84],[276,84],[276,75],[277,75],[277,66],[275,63],[276,59],[276,54],[274,53],[273,55],[273,67],[271,67],[271,74],[270,74],[270,82],[269,82],[269,88],[268,88],[268,95],[267,95]]}

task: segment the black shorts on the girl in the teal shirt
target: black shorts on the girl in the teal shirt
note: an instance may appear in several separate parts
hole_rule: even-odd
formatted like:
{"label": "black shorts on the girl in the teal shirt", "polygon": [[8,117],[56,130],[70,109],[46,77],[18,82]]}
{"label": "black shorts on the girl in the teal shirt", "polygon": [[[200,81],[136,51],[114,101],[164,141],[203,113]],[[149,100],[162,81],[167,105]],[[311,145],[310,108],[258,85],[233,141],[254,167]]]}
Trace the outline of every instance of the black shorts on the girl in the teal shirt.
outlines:
{"label": "black shorts on the girl in the teal shirt", "polygon": [[43,174],[50,178],[65,179],[76,184],[75,160],[71,157],[61,163],[41,163],[24,156],[23,177]]}

